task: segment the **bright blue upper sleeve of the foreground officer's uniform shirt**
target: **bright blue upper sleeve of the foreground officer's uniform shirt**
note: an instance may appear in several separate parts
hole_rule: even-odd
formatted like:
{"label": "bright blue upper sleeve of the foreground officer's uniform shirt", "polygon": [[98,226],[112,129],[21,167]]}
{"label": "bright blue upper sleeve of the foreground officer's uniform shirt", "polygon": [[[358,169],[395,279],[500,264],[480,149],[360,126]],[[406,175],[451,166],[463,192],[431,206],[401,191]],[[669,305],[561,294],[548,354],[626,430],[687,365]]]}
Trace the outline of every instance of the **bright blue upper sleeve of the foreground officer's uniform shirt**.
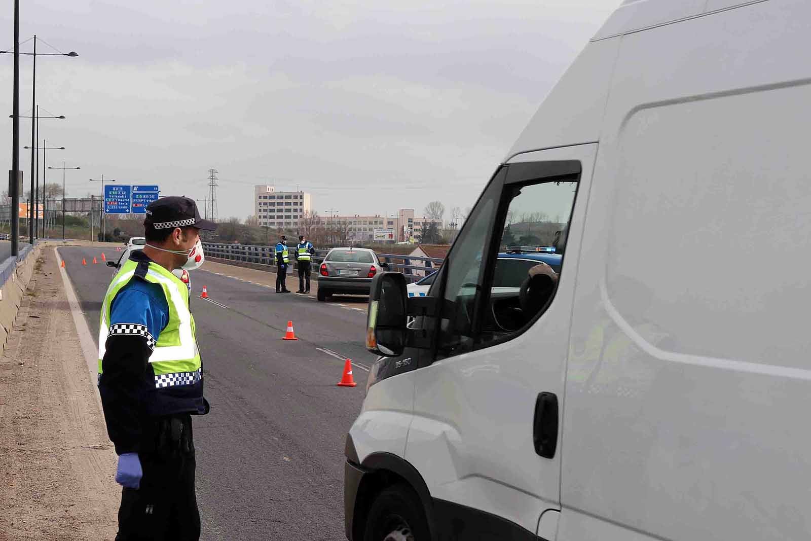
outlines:
{"label": "bright blue upper sleeve of the foreground officer's uniform shirt", "polygon": [[169,305],[160,284],[134,277],[118,291],[109,309],[109,324],[119,323],[145,325],[157,342],[169,324]]}

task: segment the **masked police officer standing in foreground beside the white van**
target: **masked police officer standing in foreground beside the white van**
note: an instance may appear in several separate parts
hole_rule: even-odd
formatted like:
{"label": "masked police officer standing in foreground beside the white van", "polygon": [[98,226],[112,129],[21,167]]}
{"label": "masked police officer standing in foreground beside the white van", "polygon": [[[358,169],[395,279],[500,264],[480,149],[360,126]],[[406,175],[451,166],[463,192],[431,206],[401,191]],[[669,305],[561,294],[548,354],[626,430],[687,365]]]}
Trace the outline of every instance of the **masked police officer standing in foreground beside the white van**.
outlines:
{"label": "masked police officer standing in foreground beside the white van", "polygon": [[146,209],[143,251],[107,288],[99,326],[98,387],[123,486],[117,541],[200,539],[191,415],[208,413],[187,286],[172,271],[203,264],[194,200]]}

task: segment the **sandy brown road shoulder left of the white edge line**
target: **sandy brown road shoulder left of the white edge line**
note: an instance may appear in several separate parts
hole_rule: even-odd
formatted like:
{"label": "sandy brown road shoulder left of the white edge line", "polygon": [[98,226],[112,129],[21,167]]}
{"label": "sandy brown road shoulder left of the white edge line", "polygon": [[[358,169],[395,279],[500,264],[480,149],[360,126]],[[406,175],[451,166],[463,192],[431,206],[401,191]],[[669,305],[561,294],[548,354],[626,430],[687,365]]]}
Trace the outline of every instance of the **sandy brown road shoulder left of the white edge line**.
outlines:
{"label": "sandy brown road shoulder left of the white edge line", "polygon": [[0,357],[0,539],[113,539],[120,488],[52,248]]}

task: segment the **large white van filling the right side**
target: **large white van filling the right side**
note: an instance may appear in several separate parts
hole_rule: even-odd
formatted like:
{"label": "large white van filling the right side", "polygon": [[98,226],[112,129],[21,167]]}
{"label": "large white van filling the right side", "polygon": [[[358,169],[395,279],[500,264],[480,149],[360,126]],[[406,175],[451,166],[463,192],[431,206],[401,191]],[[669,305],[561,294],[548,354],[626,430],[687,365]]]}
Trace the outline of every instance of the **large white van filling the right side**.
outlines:
{"label": "large white van filling the right side", "polygon": [[809,539],[809,50],[809,0],[619,7],[427,297],[376,278],[349,539]]}

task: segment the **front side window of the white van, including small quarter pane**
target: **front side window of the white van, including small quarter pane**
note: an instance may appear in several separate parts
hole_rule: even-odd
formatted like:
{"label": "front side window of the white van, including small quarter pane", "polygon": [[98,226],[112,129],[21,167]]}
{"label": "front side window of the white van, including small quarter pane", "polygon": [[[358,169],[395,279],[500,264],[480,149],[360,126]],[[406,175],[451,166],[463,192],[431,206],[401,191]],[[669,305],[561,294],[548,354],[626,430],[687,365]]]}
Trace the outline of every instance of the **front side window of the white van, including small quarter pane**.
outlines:
{"label": "front side window of the white van, including small quarter pane", "polygon": [[543,178],[502,188],[500,211],[492,210],[496,200],[483,196],[469,220],[470,234],[457,239],[463,250],[454,246],[448,256],[437,359],[517,336],[555,294],[577,179]]}

